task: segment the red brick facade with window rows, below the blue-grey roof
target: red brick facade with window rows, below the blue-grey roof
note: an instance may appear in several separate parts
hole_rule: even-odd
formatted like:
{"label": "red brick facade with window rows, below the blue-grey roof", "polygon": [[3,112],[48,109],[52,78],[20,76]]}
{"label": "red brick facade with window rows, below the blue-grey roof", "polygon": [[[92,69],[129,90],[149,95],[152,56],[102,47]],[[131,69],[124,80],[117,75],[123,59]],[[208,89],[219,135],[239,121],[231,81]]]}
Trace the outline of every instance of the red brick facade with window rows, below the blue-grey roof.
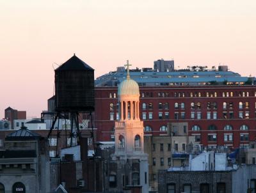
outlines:
{"label": "red brick facade with window rows, below the blue-grey roof", "polygon": [[[99,141],[113,141],[117,102],[117,87],[95,88]],[[185,122],[189,135],[209,148],[246,147],[255,141],[255,102],[253,85],[140,86],[145,135],[167,135],[168,122]]]}

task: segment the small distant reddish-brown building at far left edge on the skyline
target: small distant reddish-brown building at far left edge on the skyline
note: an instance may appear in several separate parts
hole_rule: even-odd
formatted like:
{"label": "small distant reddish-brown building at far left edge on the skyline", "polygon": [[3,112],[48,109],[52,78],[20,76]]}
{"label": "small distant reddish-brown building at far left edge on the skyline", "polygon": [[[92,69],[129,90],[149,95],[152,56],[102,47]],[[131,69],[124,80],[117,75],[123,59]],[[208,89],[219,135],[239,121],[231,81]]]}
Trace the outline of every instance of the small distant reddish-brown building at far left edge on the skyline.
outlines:
{"label": "small distant reddish-brown building at far left edge on the skyline", "polygon": [[26,111],[17,111],[16,109],[12,109],[8,107],[4,110],[4,119],[11,122],[11,128],[14,128],[14,120],[26,120]]}

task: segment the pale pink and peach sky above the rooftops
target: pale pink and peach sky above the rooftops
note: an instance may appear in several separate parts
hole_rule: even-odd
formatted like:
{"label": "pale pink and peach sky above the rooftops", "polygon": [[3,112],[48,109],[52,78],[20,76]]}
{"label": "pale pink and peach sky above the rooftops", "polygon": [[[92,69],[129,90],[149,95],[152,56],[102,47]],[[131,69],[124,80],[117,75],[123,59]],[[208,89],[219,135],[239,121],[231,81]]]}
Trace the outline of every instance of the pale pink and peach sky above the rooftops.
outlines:
{"label": "pale pink and peach sky above the rooftops", "polygon": [[0,0],[0,26],[0,119],[40,117],[74,53],[95,77],[161,58],[256,75],[255,0]]}

